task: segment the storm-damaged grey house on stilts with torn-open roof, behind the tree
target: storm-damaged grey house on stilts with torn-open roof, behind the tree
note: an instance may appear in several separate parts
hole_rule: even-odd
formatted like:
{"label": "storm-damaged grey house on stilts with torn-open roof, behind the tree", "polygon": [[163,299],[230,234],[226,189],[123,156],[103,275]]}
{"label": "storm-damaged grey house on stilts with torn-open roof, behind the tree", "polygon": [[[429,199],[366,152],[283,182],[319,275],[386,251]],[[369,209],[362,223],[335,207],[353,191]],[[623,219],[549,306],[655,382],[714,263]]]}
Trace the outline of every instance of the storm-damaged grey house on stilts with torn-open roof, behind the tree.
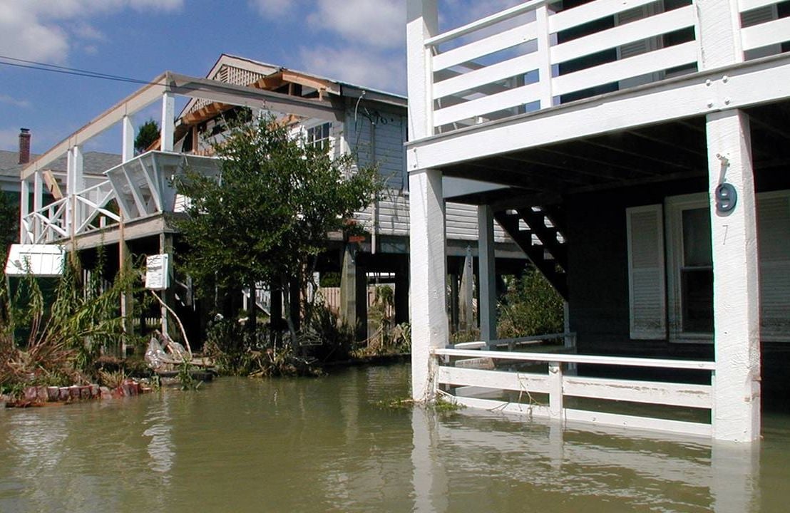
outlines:
{"label": "storm-damaged grey house on stilts with torn-open roof, behind the tree", "polygon": [[[228,54],[220,56],[205,78],[163,73],[24,166],[20,242],[73,246],[88,260],[103,246],[108,262],[128,254],[186,250],[173,223],[185,199],[176,194],[171,178],[186,166],[216,174],[219,163],[211,144],[222,137],[228,119],[240,108],[270,111],[307,144],[320,145],[333,155],[350,153],[362,166],[378,166],[385,188],[374,204],[355,214],[363,237],[349,240],[344,234],[328,234],[318,271],[340,273],[342,309],[348,322],[359,328],[360,340],[367,338],[369,281],[393,284],[395,322],[408,321],[404,96]],[[145,122],[152,109],[160,140],[136,154],[135,122]],[[118,162],[101,170],[91,167],[88,173],[85,144],[106,133],[117,136]],[[48,170],[62,160],[67,161],[66,174],[58,175],[62,193],[47,196],[43,185]],[[447,226],[449,261],[458,275],[468,248],[476,247],[476,208],[451,204]],[[523,253],[502,230],[495,234],[495,244],[502,269],[523,267]],[[174,278],[165,301],[185,320],[190,339],[198,339],[205,316],[193,300],[189,277]],[[255,303],[276,318],[282,298],[268,290],[258,293]],[[249,293],[245,301],[251,302]],[[162,319],[167,329],[165,313]]]}

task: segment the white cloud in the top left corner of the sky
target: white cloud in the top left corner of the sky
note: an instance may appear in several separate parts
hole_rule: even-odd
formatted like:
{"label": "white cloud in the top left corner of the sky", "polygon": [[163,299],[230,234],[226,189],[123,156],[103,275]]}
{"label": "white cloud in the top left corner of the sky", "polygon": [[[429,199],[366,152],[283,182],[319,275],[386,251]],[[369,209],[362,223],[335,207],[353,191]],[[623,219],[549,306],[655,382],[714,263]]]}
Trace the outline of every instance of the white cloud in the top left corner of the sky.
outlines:
{"label": "white cloud in the top left corner of the sky", "polygon": [[85,19],[122,9],[172,11],[183,0],[0,0],[0,55],[66,62],[73,39],[102,39]]}

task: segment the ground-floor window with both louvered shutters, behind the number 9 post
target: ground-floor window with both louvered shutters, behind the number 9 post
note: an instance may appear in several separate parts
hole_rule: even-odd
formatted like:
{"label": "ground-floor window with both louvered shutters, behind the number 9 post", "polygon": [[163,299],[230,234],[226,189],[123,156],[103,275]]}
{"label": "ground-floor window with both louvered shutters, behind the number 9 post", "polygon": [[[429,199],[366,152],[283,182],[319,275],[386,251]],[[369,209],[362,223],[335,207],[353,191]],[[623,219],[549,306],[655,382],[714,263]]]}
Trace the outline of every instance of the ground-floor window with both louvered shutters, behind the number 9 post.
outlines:
{"label": "ground-floor window with both louvered shutters, behind the number 9 post", "polygon": [[[630,337],[713,339],[708,195],[626,209]],[[761,338],[790,342],[790,191],[757,197]],[[664,256],[666,265],[664,266]]]}

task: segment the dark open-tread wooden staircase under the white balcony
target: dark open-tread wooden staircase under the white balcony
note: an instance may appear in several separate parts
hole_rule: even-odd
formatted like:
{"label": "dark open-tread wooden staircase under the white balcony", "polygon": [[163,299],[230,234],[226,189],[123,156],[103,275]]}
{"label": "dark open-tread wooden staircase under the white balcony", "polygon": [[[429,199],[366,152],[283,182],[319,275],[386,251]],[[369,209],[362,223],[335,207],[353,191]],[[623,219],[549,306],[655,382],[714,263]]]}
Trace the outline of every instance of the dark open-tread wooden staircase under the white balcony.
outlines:
{"label": "dark open-tread wooden staircase under the white balcony", "polygon": [[562,208],[508,209],[495,212],[494,219],[532,260],[532,264],[543,273],[551,286],[567,300],[568,248]]}

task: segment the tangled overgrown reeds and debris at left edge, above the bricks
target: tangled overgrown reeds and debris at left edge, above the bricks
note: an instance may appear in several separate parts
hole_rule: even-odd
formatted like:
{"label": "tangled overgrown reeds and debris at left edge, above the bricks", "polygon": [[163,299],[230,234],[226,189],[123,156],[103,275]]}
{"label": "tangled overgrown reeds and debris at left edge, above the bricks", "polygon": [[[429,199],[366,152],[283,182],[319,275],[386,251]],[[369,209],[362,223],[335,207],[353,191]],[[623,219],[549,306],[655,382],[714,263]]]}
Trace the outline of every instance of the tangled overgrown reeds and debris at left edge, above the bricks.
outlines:
{"label": "tangled overgrown reeds and debris at left edge, above the bricks", "polygon": [[[96,267],[103,268],[101,254]],[[94,272],[82,283],[80,263],[72,254],[47,294],[44,282],[29,272],[14,290],[3,286],[0,388],[14,392],[28,384],[64,386],[94,380],[102,348],[119,346],[125,336],[119,301],[132,276],[119,275],[108,284]]]}

